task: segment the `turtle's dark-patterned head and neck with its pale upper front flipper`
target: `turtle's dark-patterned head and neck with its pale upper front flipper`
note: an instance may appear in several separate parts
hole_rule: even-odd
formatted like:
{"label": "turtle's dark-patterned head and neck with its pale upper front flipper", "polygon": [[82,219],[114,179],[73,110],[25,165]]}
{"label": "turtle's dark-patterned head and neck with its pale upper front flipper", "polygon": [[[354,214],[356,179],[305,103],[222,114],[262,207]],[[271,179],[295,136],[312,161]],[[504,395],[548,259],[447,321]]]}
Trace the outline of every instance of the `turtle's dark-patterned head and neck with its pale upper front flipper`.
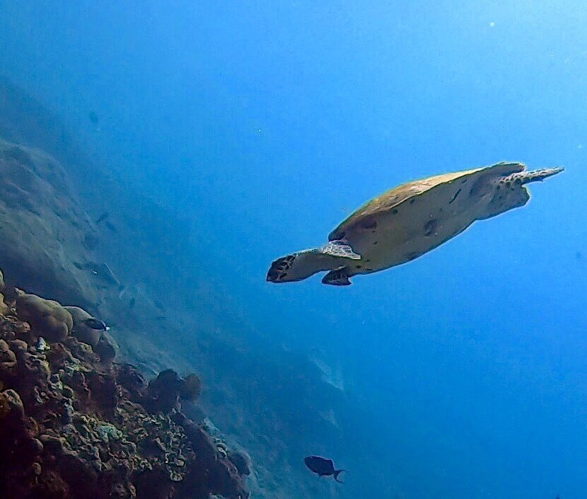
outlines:
{"label": "turtle's dark-patterned head and neck with its pale upper front flipper", "polygon": [[349,260],[360,259],[361,255],[354,253],[348,244],[331,241],[321,248],[298,251],[277,258],[267,272],[267,281],[301,281],[323,270],[344,268]]}

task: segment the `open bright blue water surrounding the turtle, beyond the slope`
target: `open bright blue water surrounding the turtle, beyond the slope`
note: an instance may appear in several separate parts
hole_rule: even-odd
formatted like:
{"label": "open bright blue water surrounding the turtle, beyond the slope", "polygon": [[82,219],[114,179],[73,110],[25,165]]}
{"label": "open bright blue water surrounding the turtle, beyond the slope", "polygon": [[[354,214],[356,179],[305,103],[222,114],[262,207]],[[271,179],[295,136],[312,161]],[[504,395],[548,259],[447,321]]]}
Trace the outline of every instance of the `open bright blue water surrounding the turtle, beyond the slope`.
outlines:
{"label": "open bright blue water surrounding the turtle, beyond the slope", "polygon": [[[307,453],[330,450],[347,483],[313,497],[573,499],[587,497],[586,22],[580,1],[0,1],[0,72],[129,193],[190,221],[178,280],[212,283],[227,335],[306,356],[342,391],[339,442]],[[351,287],[265,282],[383,190],[502,160],[566,171]],[[288,390],[267,397],[295,405]]]}

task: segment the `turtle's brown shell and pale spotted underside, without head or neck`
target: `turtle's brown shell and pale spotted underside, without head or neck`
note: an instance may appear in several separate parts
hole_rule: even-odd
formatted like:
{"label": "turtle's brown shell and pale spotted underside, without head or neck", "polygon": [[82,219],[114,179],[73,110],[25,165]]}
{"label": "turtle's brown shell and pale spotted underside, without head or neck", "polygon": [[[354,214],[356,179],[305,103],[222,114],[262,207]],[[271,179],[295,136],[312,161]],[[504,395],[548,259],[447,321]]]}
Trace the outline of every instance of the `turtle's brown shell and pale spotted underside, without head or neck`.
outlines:
{"label": "turtle's brown shell and pale spotted underside, without head or neck", "polygon": [[472,222],[522,206],[523,185],[504,188],[499,179],[525,170],[499,163],[414,180],[366,202],[330,233],[361,255],[354,273],[371,273],[413,260],[460,234]]}

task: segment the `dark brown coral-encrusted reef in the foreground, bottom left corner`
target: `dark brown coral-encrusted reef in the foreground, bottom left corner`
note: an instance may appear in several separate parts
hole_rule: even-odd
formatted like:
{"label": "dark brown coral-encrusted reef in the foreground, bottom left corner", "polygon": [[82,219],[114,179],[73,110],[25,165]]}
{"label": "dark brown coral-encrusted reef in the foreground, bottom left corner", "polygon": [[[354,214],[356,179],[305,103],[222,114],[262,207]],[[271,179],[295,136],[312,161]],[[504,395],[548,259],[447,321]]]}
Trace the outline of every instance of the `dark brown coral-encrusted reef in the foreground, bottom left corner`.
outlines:
{"label": "dark brown coral-encrusted reef in the foreground, bottom left corner", "polygon": [[182,413],[181,400],[199,395],[195,374],[167,369],[147,383],[132,365],[100,362],[108,339],[80,328],[83,309],[22,292],[6,302],[3,499],[248,497],[246,457]]}

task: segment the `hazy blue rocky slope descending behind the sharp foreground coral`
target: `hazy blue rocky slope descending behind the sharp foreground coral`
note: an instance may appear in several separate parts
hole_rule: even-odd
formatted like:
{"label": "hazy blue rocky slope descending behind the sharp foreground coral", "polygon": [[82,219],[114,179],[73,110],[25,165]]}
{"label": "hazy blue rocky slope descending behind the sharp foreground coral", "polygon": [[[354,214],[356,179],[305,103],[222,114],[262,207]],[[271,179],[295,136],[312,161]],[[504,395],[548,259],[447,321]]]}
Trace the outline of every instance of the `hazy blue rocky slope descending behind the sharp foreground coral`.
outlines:
{"label": "hazy blue rocky slope descending behind the sharp foreground coral", "polygon": [[[317,481],[303,465],[306,453],[340,458],[354,444],[342,440],[357,434],[345,394],[322,382],[305,356],[255,336],[246,304],[204,260],[213,245],[197,230],[197,217],[188,222],[140,186],[123,182],[112,170],[115,159],[98,160],[103,156],[92,152],[100,150],[99,137],[93,147],[79,144],[78,132],[74,141],[44,105],[1,78],[0,137],[5,277],[30,294],[82,309],[67,307],[73,328],[43,330],[52,348],[45,355],[61,348],[55,344],[79,358],[68,346],[76,340],[102,357],[92,364],[95,372],[114,355],[148,378],[167,367],[197,371],[206,389],[197,404],[183,403],[182,412],[216,439],[220,454],[222,441],[250,453],[252,497],[353,497],[350,484]],[[46,309],[59,309],[59,303]],[[34,323],[16,311],[8,314],[11,320]],[[116,343],[80,326],[87,316],[105,320]],[[23,341],[29,353],[37,348],[34,339]],[[108,368],[115,381],[120,368]],[[127,400],[150,411],[143,399]]]}

